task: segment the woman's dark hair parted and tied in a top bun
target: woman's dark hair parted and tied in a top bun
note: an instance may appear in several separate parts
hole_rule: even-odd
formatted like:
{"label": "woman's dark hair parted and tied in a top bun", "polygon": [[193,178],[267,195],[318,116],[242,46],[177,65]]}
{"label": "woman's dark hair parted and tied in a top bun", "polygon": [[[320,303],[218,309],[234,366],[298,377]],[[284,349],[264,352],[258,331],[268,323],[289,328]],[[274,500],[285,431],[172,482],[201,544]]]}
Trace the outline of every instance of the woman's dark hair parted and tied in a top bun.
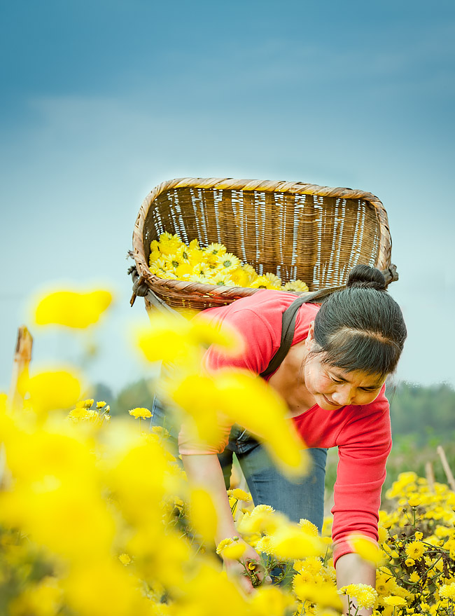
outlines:
{"label": "woman's dark hair parted and tied in a top bun", "polygon": [[347,372],[384,377],[395,370],[407,336],[400,306],[386,291],[384,275],[367,265],[349,273],[346,289],[323,300],[314,320],[322,362]]}

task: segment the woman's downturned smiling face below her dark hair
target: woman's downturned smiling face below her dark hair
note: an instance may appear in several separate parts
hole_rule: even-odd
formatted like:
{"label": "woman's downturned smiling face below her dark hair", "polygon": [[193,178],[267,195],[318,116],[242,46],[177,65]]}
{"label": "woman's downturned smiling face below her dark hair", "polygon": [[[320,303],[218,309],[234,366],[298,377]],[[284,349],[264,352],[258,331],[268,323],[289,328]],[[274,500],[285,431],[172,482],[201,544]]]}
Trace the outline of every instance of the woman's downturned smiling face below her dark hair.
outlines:
{"label": "woman's downturned smiling face below her dark hair", "polygon": [[[305,346],[314,345],[312,326]],[[316,404],[326,411],[340,409],[349,404],[370,404],[377,398],[384,376],[364,372],[346,372],[330,364],[323,364],[323,355],[308,355],[302,366],[304,385],[314,396]]]}

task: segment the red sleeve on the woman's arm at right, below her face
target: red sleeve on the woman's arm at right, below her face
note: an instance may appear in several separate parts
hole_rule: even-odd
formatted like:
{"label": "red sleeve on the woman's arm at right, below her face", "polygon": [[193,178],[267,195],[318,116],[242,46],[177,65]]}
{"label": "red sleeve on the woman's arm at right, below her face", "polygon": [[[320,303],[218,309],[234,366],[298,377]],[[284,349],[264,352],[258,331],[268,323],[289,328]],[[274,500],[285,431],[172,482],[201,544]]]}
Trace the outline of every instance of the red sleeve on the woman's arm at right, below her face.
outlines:
{"label": "red sleeve on the woman's arm at right, below her face", "polygon": [[334,562],[353,552],[352,533],[377,541],[381,488],[391,451],[391,425],[385,385],[371,404],[353,413],[337,438],[339,463],[332,507]]}

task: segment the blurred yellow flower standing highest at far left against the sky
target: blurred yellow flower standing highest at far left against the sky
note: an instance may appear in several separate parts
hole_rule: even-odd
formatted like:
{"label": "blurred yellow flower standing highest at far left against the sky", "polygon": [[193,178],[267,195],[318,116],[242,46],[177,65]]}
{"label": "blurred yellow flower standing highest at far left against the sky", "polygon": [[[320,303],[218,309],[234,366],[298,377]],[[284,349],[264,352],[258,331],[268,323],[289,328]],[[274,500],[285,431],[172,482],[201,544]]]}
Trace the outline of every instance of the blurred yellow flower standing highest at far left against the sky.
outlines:
{"label": "blurred yellow flower standing highest at far left against the sky", "polygon": [[38,325],[53,324],[85,329],[99,320],[111,301],[112,294],[109,291],[56,291],[38,301],[35,321]]}

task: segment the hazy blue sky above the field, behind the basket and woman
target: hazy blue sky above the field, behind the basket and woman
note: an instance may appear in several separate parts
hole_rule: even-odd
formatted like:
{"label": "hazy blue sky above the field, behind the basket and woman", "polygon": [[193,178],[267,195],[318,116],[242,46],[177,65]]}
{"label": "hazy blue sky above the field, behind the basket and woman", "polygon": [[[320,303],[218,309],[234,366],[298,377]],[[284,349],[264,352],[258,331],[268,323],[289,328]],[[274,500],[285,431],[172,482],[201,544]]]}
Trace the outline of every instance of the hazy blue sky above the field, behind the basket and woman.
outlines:
{"label": "hazy blue sky above the field, behind the basket and woman", "polygon": [[[130,350],[134,219],[173,177],[286,179],[376,194],[409,338],[397,378],[455,385],[452,1],[3,3],[0,388],[29,297],[116,289],[94,381]],[[33,331],[33,328],[31,328]],[[36,334],[34,362],[83,341]]]}

